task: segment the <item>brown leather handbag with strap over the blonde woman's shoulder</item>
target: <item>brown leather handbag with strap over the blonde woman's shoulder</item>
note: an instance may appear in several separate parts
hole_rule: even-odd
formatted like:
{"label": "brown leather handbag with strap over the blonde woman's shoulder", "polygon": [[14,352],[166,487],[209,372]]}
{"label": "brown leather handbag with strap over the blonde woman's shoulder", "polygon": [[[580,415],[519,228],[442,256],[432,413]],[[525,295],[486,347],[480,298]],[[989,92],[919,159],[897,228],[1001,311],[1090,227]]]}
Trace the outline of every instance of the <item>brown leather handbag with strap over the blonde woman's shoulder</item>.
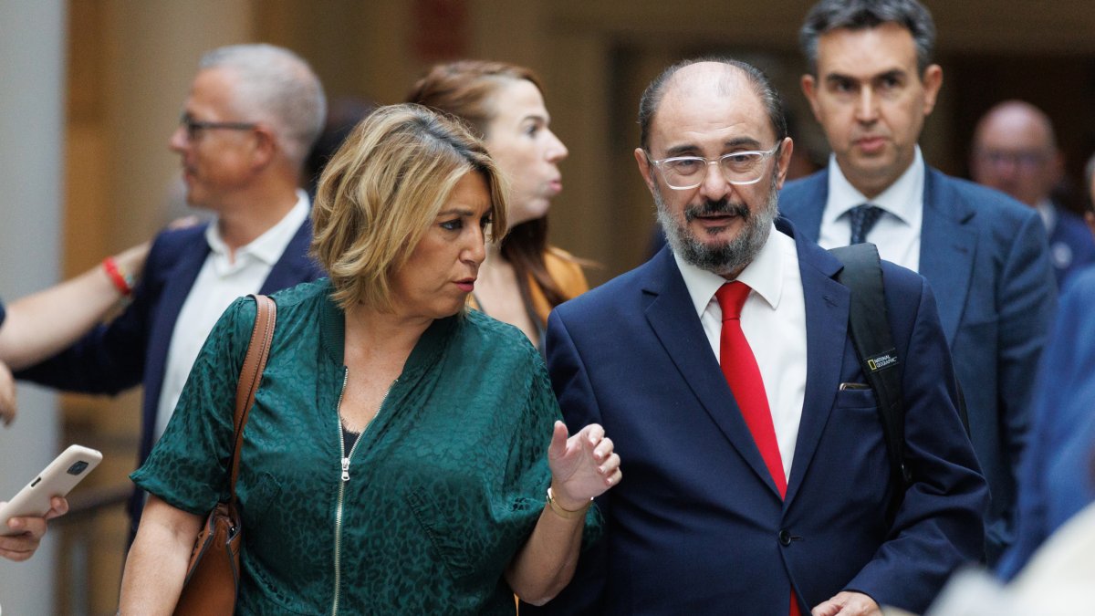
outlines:
{"label": "brown leather handbag with strap over the blonde woman's shoulder", "polygon": [[191,554],[191,564],[183,582],[183,593],[175,605],[175,614],[182,616],[221,616],[235,612],[235,594],[240,588],[240,545],[243,526],[235,507],[235,478],[240,472],[240,447],[243,444],[243,426],[247,424],[247,413],[255,402],[255,391],[263,378],[266,357],[269,355],[277,320],[277,305],[265,295],[252,295],[258,306],[255,327],[251,331],[247,356],[240,370],[240,383],[235,388],[235,433],[232,445],[232,498],[227,503],[217,503],[209,513],[205,526],[198,533]]}

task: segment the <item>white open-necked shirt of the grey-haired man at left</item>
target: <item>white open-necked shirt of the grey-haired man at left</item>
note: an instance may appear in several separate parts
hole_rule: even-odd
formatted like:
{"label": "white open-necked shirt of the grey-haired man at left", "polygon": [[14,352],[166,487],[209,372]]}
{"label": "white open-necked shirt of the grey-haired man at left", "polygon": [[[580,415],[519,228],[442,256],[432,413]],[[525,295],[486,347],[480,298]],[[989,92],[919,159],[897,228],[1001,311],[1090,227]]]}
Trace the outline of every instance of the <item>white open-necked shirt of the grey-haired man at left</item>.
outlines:
{"label": "white open-necked shirt of the grey-haired man at left", "polygon": [[175,411],[191,367],[212,327],[217,324],[217,319],[237,297],[258,293],[274,264],[281,259],[286,247],[308,218],[309,209],[308,194],[297,191],[297,204],[292,209],[265,233],[238,248],[234,261],[229,259],[228,247],[220,237],[217,220],[206,228],[209,254],[178,311],[175,329],[171,332],[168,365],[163,373],[155,418],[155,440],[168,427],[168,420]]}

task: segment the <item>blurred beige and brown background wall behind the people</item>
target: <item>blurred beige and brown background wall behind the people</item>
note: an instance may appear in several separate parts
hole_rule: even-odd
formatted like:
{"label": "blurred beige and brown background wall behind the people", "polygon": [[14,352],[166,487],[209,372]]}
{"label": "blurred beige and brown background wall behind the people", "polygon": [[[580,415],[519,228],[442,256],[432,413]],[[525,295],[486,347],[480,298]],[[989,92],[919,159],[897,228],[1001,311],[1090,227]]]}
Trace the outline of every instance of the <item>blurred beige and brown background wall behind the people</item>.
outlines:
{"label": "blurred beige and brown background wall behind the people", "polygon": [[[1071,80],[1095,58],[1090,0],[931,0],[940,56],[1007,66],[1008,56],[1052,64],[1068,59]],[[565,190],[551,213],[556,243],[593,259],[603,282],[639,263],[653,229],[653,206],[634,169],[638,95],[661,68],[705,52],[762,65],[798,115],[804,144],[821,139],[797,92],[802,62],[796,30],[809,2],[728,0],[69,0],[69,93],[65,270],[74,274],[104,254],[150,237],[173,213],[177,160],[166,139],[177,122],[200,53],[237,42],[286,45],[309,59],[328,95],[400,101],[415,77],[446,54],[503,59],[542,75],[553,127],[570,150]],[[433,15],[433,18],[431,18]],[[995,64],[993,64],[995,62]],[[949,77],[949,72],[947,73]],[[947,81],[924,135],[929,159],[960,171],[964,92],[982,76]],[[1040,76],[1008,76],[993,83]],[[1086,81],[1044,87],[1092,109]],[[1056,91],[1054,91],[1056,90]],[[1086,105],[1086,106],[1084,106]],[[1090,114],[1088,114],[1090,115]],[[1073,127],[1076,148],[1095,148],[1090,121]],[[964,119],[963,119],[964,121]],[[1086,132],[1086,133],[1085,133]],[[965,138],[961,136],[960,138]],[[821,144],[823,147],[823,144]],[[137,395],[120,400],[69,397],[70,433],[101,444],[108,463],[101,486],[125,486],[139,424]],[[116,598],[125,522],[103,522],[95,558],[93,613]]]}

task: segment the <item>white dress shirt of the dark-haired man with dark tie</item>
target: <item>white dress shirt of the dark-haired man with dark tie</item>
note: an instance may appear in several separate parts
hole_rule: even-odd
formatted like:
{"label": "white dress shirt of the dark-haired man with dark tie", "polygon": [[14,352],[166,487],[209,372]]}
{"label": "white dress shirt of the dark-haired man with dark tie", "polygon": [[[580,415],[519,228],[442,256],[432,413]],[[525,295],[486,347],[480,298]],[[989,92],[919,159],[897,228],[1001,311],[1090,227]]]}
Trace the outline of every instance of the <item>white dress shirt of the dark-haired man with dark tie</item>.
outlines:
{"label": "white dress shirt of the dark-haired man with dark tie", "polygon": [[887,261],[919,271],[920,231],[924,221],[924,158],[917,146],[912,164],[904,173],[875,198],[867,198],[844,178],[837,158],[829,157],[829,198],[821,214],[821,248],[848,246],[852,239],[852,225],[848,212],[869,203],[883,208],[874,228],[867,231],[866,241],[878,247],[878,254]]}

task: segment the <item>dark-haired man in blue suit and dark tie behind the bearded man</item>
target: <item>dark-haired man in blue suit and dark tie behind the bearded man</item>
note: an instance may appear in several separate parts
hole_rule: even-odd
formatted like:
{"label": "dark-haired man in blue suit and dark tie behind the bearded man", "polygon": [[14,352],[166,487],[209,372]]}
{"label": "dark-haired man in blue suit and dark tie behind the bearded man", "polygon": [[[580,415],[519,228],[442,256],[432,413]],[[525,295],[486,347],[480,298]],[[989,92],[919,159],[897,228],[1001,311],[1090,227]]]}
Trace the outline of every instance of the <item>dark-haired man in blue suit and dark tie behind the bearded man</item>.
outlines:
{"label": "dark-haired man in blue suit and dark tie behind the bearded man", "polygon": [[799,33],[802,84],[832,148],[829,164],[787,184],[780,208],[825,248],[871,241],[936,290],[992,494],[987,559],[1013,540],[1030,391],[1056,308],[1037,214],[924,163],[917,140],[943,69],[935,25],[915,0],[822,0]]}

